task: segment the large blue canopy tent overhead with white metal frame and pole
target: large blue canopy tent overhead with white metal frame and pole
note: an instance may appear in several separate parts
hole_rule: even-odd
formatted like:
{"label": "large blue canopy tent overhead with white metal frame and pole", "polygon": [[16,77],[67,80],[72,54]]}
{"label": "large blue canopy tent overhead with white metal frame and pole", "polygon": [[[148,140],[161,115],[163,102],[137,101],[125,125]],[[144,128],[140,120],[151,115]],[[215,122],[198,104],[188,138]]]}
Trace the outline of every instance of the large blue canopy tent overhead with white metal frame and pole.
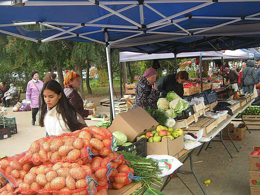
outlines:
{"label": "large blue canopy tent overhead with white metal frame and pole", "polygon": [[[260,0],[4,0],[0,33],[34,42],[106,45],[110,52],[177,53],[260,45]],[[39,24],[39,31],[24,25]],[[43,30],[43,26],[47,29]],[[112,104],[113,117],[115,116]]]}

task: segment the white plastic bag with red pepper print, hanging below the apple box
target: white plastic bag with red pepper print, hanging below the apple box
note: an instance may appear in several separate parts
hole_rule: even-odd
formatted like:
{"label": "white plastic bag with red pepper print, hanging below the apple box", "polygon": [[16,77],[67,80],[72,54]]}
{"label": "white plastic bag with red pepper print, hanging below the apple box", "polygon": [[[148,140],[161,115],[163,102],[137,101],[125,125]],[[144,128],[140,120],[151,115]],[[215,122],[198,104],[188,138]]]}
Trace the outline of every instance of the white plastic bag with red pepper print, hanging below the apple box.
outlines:
{"label": "white plastic bag with red pepper print, hanging below the apple box", "polygon": [[146,157],[158,161],[158,166],[162,170],[162,174],[159,175],[160,177],[172,174],[177,168],[183,165],[178,159],[169,155],[153,154]]}

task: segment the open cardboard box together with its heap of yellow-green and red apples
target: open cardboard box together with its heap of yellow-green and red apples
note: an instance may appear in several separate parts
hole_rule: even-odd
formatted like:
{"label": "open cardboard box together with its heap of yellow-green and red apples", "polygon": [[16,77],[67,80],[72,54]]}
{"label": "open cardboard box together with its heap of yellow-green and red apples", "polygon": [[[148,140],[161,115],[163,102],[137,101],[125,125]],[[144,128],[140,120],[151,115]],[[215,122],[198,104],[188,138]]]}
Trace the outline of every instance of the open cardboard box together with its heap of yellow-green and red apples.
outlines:
{"label": "open cardboard box together with its heap of yellow-green and red apples", "polygon": [[[158,125],[156,130],[146,132],[144,137],[148,139],[146,148],[147,155],[167,154],[174,156],[184,148],[184,138],[182,129],[173,129]],[[140,138],[137,138],[137,140]]]}

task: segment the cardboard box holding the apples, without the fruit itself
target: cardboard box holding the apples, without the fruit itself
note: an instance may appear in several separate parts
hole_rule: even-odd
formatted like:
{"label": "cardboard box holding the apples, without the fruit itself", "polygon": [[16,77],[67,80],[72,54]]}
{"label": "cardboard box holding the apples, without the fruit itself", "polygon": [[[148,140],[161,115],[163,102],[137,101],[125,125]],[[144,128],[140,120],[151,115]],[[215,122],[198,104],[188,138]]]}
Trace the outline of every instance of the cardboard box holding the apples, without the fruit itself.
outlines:
{"label": "cardboard box holding the apples, without the fruit itself", "polygon": [[[139,138],[137,138],[139,139]],[[147,142],[147,155],[166,154],[174,156],[184,148],[183,134],[171,140],[171,138],[163,138],[161,142]]]}

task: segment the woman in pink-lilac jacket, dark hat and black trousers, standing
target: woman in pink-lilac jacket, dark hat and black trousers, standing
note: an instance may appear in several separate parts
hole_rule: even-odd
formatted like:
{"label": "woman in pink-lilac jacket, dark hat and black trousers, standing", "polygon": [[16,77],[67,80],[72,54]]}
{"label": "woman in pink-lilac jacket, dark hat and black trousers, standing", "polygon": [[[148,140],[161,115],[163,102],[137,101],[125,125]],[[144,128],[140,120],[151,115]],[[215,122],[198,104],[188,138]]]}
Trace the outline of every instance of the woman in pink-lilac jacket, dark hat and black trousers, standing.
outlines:
{"label": "woman in pink-lilac jacket, dark hat and black trousers, standing", "polygon": [[32,80],[27,84],[26,101],[32,108],[32,125],[35,125],[36,115],[39,111],[39,93],[43,88],[43,82],[39,80],[39,73],[32,72]]}

